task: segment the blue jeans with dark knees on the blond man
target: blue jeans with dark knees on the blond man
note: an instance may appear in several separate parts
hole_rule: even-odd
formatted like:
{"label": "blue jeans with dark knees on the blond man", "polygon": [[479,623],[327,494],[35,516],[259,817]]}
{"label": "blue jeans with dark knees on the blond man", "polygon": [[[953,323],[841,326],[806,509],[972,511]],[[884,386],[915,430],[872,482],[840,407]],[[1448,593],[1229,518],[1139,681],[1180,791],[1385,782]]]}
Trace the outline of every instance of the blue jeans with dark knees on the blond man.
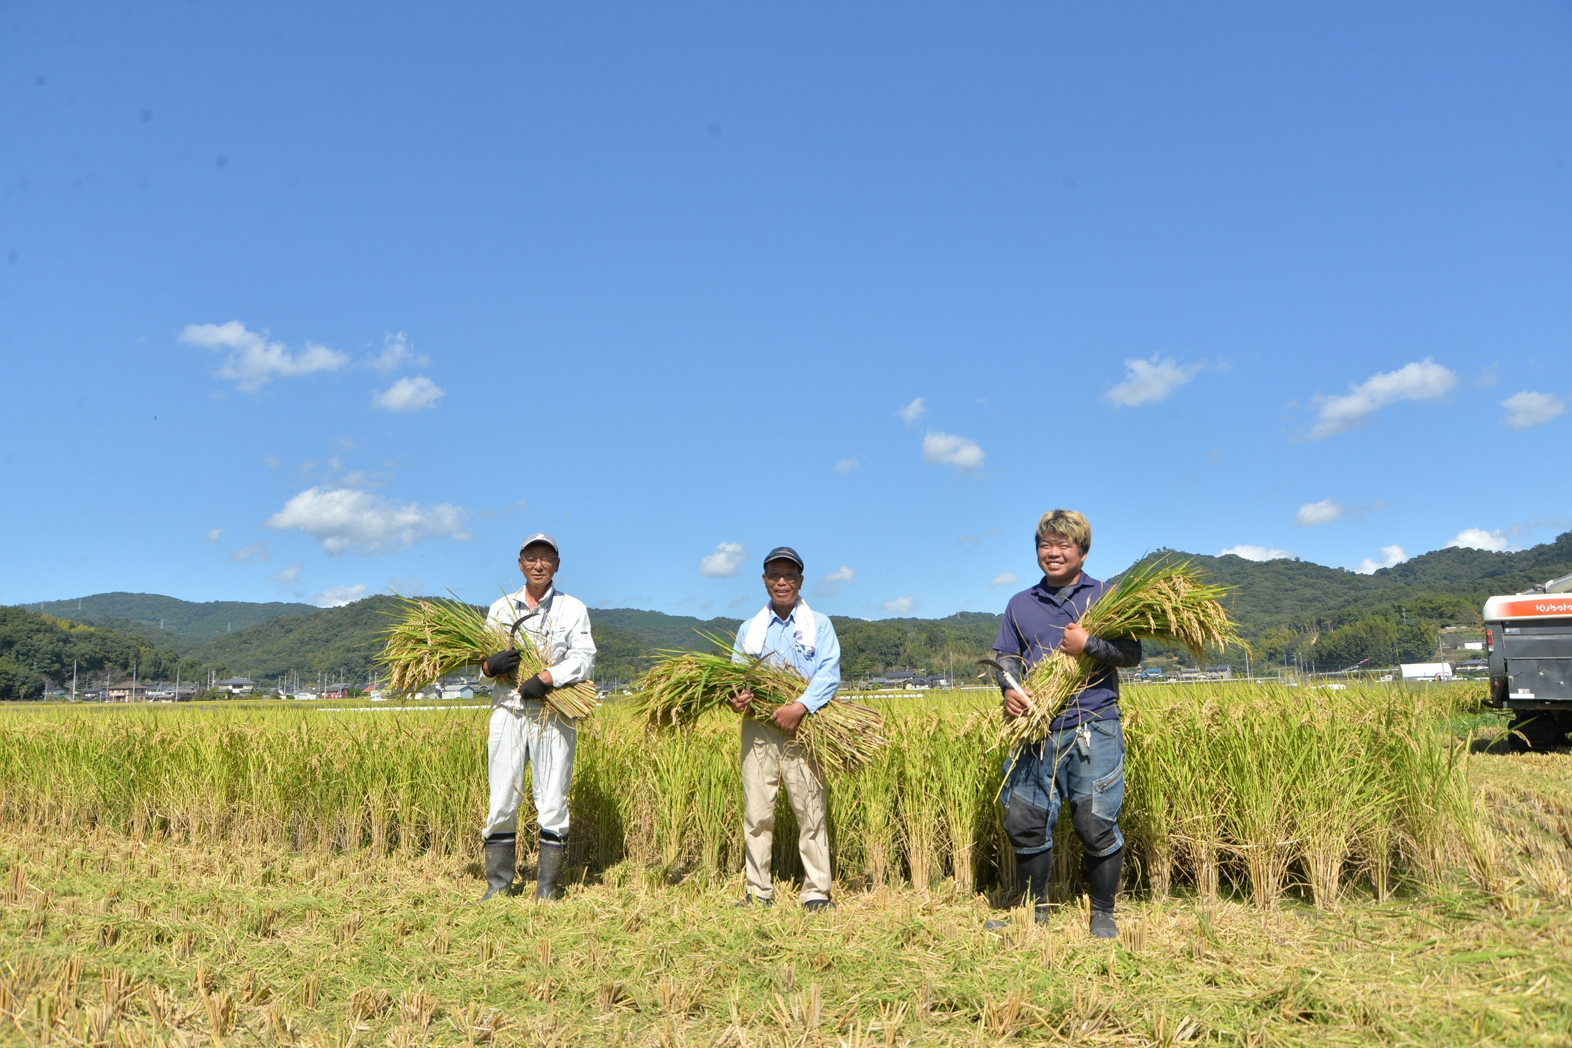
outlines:
{"label": "blue jeans with dark knees on the blond man", "polygon": [[1124,729],[1119,718],[1086,721],[1049,732],[1041,743],[1020,746],[1005,760],[1005,836],[1016,855],[1053,847],[1060,806],[1075,803],[1071,822],[1086,855],[1099,858],[1124,847]]}

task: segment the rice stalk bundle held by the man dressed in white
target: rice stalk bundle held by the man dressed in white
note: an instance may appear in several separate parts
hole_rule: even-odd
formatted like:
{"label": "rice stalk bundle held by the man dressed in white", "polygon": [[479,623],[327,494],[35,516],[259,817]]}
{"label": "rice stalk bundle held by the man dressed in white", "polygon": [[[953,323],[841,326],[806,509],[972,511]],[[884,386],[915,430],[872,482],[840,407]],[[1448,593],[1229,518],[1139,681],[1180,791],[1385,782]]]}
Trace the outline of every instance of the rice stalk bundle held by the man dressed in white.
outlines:
{"label": "rice stalk bundle held by the man dressed in white", "polygon": [[[519,649],[519,668],[498,683],[519,687],[545,669],[545,657],[523,628],[512,632],[486,619],[486,613],[462,600],[399,597],[404,605],[398,621],[382,630],[385,638],[377,665],[388,671],[390,690],[407,698],[465,666],[478,666],[487,655],[508,647]],[[563,716],[578,720],[596,705],[594,683],[580,680],[545,693],[545,705]]]}

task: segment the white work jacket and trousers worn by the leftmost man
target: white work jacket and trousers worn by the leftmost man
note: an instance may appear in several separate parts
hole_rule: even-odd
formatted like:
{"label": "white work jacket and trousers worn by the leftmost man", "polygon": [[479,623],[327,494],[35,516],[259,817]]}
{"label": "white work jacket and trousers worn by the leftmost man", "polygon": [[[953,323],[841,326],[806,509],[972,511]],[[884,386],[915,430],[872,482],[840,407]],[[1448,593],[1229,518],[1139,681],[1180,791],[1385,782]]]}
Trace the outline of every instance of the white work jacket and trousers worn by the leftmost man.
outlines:
{"label": "white work jacket and trousers worn by the leftmost man", "polygon": [[[552,685],[563,687],[588,680],[594,671],[594,638],[590,635],[590,610],[583,600],[547,589],[534,608],[525,600],[525,588],[500,597],[486,617],[509,628],[519,627],[517,646],[533,643],[552,671]],[[539,701],[519,698],[519,690],[503,682],[492,688],[490,734],[486,745],[486,773],[490,779],[490,808],[484,837],[503,837],[519,830],[519,801],[523,768],[534,765],[534,815],[541,837],[567,839],[567,784],[574,773],[574,746],[578,732],[574,723],[545,709]]]}

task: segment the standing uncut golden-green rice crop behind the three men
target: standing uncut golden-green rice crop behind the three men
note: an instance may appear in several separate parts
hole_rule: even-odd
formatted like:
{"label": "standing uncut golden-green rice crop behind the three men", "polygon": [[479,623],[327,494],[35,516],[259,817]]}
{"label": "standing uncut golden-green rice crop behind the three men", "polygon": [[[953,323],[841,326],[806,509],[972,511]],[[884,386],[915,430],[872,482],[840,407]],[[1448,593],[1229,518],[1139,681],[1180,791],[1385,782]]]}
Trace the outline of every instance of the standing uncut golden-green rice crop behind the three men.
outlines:
{"label": "standing uncut golden-green rice crop behind the three men", "polygon": [[[1336,907],[1355,885],[1385,897],[1399,885],[1443,883],[1468,863],[1476,819],[1468,748],[1445,726],[1481,694],[1475,685],[1130,687],[1119,817],[1127,891],[1259,905],[1298,891]],[[39,839],[105,826],[233,853],[252,844],[310,853],[479,847],[484,705],[5,705],[0,825]],[[898,742],[830,782],[836,878],[1008,891],[1001,768],[982,721],[994,707],[984,691],[880,702],[883,734]],[[640,866],[734,874],[744,853],[736,715],[707,713],[692,731],[649,734],[646,724],[629,702],[612,702],[580,726],[569,864],[608,877]],[[520,839],[534,830],[525,795]],[[1064,861],[1052,894],[1071,899],[1080,847],[1067,817],[1055,848]],[[797,823],[781,790],[775,874],[797,872]]]}

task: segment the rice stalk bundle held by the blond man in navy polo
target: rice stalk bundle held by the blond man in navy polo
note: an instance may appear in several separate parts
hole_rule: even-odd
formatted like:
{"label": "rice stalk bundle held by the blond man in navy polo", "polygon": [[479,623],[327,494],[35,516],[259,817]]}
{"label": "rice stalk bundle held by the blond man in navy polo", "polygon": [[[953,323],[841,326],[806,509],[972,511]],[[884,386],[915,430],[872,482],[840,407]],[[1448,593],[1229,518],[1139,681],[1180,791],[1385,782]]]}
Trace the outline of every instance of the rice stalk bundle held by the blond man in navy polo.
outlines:
{"label": "rice stalk bundle held by the blond man in navy polo", "polygon": [[[1228,586],[1206,581],[1190,561],[1171,562],[1166,556],[1137,564],[1082,616],[1093,636],[1132,638],[1184,647],[1198,661],[1206,649],[1243,646],[1234,622],[1221,605]],[[1005,742],[1036,742],[1075,696],[1086,690],[1100,663],[1086,655],[1055,649],[1031,668],[1022,685],[1031,709],[1005,721]]]}

